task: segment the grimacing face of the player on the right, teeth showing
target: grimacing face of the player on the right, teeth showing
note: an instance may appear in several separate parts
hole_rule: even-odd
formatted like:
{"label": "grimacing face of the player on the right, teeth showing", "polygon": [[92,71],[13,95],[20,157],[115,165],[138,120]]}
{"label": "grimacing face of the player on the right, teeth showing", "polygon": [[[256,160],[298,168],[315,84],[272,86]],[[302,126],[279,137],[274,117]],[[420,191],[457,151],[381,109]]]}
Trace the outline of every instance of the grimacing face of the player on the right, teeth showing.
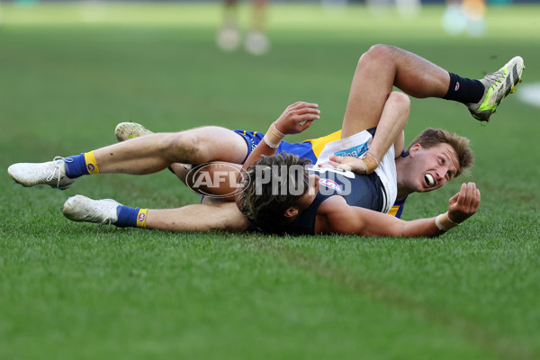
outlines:
{"label": "grimacing face of the player on the right, teeth showing", "polygon": [[410,169],[411,187],[425,193],[436,190],[455,177],[459,162],[454,148],[446,143],[432,148],[416,148]]}

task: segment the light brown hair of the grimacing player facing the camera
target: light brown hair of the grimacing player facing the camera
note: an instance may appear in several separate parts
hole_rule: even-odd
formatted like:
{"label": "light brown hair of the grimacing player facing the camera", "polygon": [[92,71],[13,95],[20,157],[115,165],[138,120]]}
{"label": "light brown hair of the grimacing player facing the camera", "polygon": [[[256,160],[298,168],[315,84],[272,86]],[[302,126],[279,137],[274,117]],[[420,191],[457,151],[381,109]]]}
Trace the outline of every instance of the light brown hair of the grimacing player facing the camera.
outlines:
{"label": "light brown hair of the grimacing player facing the camera", "polygon": [[462,175],[464,171],[473,166],[474,153],[469,147],[469,139],[459,136],[454,132],[442,129],[429,128],[423,130],[419,136],[410,142],[409,147],[405,150],[405,156],[409,155],[410,148],[415,144],[420,144],[422,148],[433,148],[441,143],[446,143],[455,150],[459,162],[459,168],[457,169],[455,176]]}

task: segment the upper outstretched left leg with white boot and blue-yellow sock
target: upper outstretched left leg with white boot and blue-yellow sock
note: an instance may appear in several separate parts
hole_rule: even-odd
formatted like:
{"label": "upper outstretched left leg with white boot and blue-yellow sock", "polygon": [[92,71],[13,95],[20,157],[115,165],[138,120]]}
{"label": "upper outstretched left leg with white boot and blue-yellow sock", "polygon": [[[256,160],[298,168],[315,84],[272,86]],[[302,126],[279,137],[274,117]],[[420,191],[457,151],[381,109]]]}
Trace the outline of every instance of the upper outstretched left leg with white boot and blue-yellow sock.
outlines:
{"label": "upper outstretched left leg with white boot and blue-yellow sock", "polygon": [[204,127],[176,133],[151,134],[105,148],[47,163],[20,163],[8,168],[23,186],[49,184],[66,189],[76,177],[89,174],[151,174],[175,163],[232,163],[247,157],[247,144],[237,133]]}

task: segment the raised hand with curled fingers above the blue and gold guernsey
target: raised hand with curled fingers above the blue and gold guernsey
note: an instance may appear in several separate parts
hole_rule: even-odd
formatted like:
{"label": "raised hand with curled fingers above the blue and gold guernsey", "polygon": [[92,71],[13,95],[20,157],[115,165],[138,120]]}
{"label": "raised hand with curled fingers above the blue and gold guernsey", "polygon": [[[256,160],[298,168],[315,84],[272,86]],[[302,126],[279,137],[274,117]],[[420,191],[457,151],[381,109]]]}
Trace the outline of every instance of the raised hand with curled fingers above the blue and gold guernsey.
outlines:
{"label": "raised hand with curled fingers above the blue and gold guernsey", "polygon": [[285,109],[275,121],[275,128],[285,135],[298,134],[308,129],[311,123],[320,118],[317,103],[297,102]]}

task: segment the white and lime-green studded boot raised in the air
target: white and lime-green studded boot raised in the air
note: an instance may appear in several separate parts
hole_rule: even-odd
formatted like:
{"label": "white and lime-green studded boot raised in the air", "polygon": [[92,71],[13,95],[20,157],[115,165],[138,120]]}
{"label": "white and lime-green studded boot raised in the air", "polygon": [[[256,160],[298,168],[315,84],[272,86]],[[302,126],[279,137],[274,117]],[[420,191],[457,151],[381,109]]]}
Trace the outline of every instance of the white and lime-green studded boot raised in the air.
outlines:
{"label": "white and lime-green studded boot raised in the air", "polygon": [[502,99],[516,91],[523,74],[523,58],[515,57],[501,67],[499,71],[486,75],[480,81],[485,87],[482,99],[478,103],[467,103],[473,118],[490,121],[491,115],[497,112]]}

